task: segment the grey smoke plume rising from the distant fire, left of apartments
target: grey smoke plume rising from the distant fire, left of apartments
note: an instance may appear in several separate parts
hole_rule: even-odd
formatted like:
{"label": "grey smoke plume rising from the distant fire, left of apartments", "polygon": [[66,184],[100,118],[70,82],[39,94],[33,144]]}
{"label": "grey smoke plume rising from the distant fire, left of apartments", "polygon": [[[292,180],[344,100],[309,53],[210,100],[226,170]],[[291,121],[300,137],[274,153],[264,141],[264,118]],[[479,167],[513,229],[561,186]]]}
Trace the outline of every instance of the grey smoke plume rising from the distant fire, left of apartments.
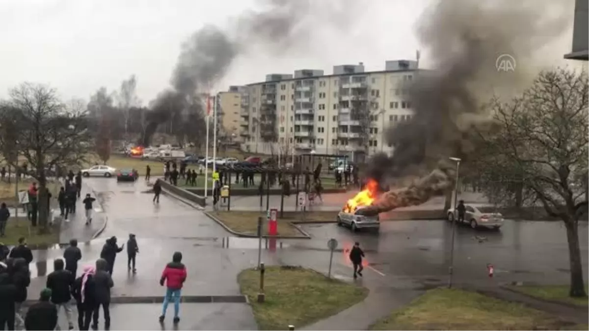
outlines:
{"label": "grey smoke plume rising from the distant fire, left of apartments", "polygon": [[[243,12],[233,20],[231,28],[207,25],[194,32],[182,45],[171,78],[173,90],[162,92],[151,102],[149,124],[141,143],[149,145],[158,125],[174,114],[186,113],[188,105],[204,104],[198,95],[209,92],[226,75],[238,55],[258,46],[273,54],[295,48],[300,51],[309,46],[309,35],[315,29],[352,28],[355,20],[348,18],[358,15],[356,6],[354,0],[258,0],[259,9]],[[320,16],[326,11],[330,19]],[[177,99],[185,100],[184,104],[166,104],[167,100]]]}

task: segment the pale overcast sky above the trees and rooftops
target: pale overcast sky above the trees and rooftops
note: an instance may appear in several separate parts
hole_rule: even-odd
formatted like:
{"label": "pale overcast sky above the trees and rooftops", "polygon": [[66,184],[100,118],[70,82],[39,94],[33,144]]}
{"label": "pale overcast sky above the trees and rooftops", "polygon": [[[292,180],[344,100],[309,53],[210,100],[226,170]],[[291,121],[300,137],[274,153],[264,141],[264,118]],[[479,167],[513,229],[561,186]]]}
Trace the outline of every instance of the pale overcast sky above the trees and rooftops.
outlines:
{"label": "pale overcast sky above the trees and rooftops", "polygon": [[[180,44],[191,32],[207,23],[225,26],[253,1],[0,0],[0,97],[19,82],[34,81],[51,84],[65,99],[88,100],[101,86],[116,89],[135,74],[138,97],[147,104],[169,86]],[[242,57],[217,90],[262,81],[270,72],[317,68],[329,74],[334,64],[360,61],[379,70],[387,59],[415,58],[416,20],[430,1],[361,2],[369,7],[358,12],[353,31],[321,32],[318,19],[319,31],[309,36],[313,47],[283,57]],[[327,12],[319,16],[333,19]],[[429,56],[423,54],[425,65]]]}

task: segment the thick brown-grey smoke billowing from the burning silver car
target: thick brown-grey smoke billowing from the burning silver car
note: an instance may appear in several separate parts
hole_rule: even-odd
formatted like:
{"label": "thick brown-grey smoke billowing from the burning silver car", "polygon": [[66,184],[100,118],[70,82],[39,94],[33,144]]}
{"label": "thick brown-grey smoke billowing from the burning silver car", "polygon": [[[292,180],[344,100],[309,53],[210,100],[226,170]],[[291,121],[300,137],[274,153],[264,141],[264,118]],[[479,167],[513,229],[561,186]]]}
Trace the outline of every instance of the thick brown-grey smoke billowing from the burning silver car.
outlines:
{"label": "thick brown-grey smoke billowing from the burning silver car", "polygon": [[[540,69],[535,52],[569,27],[571,4],[568,0],[438,0],[423,14],[418,35],[435,59],[434,68],[407,86],[415,115],[386,133],[394,155],[376,157],[368,176],[382,181],[416,168],[436,169],[404,191],[386,193],[367,212],[420,204],[452,184],[452,167],[440,160],[468,159],[476,148],[471,139],[474,128],[491,126],[482,102],[492,95],[511,97],[525,87]],[[515,71],[497,70],[502,54],[515,58]]]}

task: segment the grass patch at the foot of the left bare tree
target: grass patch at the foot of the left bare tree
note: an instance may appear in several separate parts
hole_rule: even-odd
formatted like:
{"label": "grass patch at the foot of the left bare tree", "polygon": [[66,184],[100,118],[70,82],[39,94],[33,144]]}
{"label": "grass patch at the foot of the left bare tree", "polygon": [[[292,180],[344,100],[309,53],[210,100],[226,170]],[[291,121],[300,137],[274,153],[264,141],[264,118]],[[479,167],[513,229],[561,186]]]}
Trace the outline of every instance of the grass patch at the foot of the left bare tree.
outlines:
{"label": "grass patch at the foot of the left bare tree", "polygon": [[11,217],[6,224],[6,237],[0,238],[0,242],[6,245],[15,245],[18,243],[20,237],[27,238],[29,245],[52,245],[59,243],[59,227],[54,226],[49,228],[49,233],[38,234],[38,229],[31,227],[31,236],[28,230],[29,220],[27,217],[18,217],[15,219]]}

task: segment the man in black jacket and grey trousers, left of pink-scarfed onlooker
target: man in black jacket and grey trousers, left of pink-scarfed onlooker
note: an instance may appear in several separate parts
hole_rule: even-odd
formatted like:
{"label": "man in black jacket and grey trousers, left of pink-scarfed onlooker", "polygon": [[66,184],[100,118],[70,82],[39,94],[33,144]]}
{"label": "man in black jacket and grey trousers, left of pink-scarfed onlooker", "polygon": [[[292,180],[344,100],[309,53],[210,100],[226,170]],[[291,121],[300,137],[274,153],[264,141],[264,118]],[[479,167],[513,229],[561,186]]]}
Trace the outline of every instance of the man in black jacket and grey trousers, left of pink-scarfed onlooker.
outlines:
{"label": "man in black jacket and grey trousers, left of pink-scarfed onlooker", "polygon": [[64,260],[56,259],[53,262],[54,272],[47,276],[47,288],[51,290],[51,302],[57,307],[57,312],[63,307],[65,310],[65,319],[68,321],[70,330],[74,329],[72,323],[71,286],[74,283],[74,277],[68,270],[64,270]]}

